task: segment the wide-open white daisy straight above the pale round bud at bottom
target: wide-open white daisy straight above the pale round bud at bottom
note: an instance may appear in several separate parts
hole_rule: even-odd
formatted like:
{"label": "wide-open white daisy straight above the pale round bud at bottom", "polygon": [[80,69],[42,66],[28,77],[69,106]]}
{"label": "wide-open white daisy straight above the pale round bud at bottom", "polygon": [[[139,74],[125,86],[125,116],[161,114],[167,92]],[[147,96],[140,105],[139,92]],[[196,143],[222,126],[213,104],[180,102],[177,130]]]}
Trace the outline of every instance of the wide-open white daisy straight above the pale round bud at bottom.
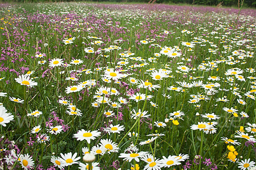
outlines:
{"label": "wide-open white daisy straight above the pale round bud at bottom", "polygon": [[96,139],[96,137],[100,136],[100,132],[98,130],[90,131],[90,130],[79,130],[78,133],[74,134],[73,138],[77,138],[79,141],[86,140],[90,144],[90,140]]}

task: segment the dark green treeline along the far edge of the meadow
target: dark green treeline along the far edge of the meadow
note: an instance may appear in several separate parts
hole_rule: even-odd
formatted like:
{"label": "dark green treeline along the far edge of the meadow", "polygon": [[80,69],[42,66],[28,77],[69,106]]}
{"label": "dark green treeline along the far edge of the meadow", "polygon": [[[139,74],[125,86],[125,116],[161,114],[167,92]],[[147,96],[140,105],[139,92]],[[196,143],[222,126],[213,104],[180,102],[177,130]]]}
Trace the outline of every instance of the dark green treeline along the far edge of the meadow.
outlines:
{"label": "dark green treeline along the far edge of the meadow", "polygon": [[[20,3],[42,3],[42,2],[78,2],[81,0],[0,0],[0,2],[20,2]],[[93,2],[122,2],[122,3],[147,3],[149,0],[90,0]],[[241,6],[242,0],[150,0],[154,3],[170,3],[170,4],[194,4],[206,6]],[[256,7],[256,0],[244,0],[244,7]]]}

